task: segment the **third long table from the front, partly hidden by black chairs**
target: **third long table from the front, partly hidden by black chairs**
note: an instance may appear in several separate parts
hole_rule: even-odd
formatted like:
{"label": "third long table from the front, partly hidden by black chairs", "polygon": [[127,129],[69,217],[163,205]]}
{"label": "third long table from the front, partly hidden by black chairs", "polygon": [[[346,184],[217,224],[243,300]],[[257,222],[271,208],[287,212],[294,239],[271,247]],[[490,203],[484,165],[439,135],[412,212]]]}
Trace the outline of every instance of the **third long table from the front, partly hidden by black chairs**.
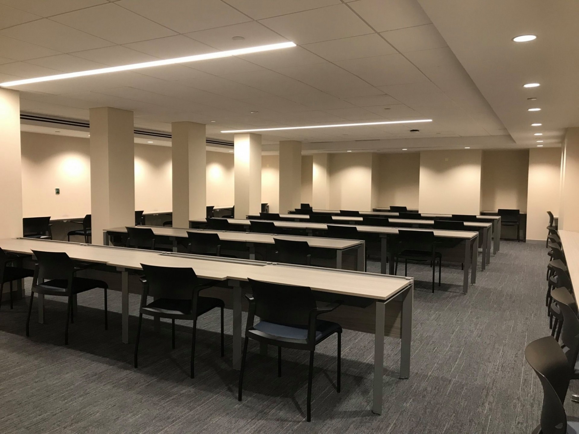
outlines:
{"label": "third long table from the front, partly hidden by black chairs", "polygon": [[[250,230],[251,220],[246,219],[225,219],[230,225],[243,226],[246,231]],[[308,235],[313,235],[314,230],[327,230],[325,223],[309,222],[284,222],[283,220],[260,220],[273,222],[280,229],[303,229]],[[206,220],[190,220],[191,225],[203,225]],[[393,249],[388,249],[390,242],[398,235],[398,229],[424,231],[426,229],[416,229],[412,227],[383,227],[383,226],[360,226],[360,225],[341,225],[354,226],[359,232],[367,234],[376,234],[380,237],[380,273],[394,274],[394,256]],[[447,240],[455,239],[464,243],[464,258],[459,262],[464,264],[463,270],[463,293],[468,292],[468,273],[471,274],[471,284],[477,282],[477,262],[478,262],[478,231],[459,231],[459,230],[431,230],[435,237],[445,238]],[[387,259],[389,259],[387,261]]]}

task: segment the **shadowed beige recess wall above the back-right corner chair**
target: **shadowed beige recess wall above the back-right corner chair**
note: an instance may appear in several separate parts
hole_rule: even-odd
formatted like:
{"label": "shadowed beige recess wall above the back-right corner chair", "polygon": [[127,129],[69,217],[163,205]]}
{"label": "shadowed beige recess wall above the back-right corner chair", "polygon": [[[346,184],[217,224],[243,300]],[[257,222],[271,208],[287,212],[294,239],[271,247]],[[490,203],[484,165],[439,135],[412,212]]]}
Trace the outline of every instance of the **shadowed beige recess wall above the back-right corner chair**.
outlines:
{"label": "shadowed beige recess wall above the back-right corner chair", "polygon": [[481,208],[527,211],[529,149],[482,152]]}

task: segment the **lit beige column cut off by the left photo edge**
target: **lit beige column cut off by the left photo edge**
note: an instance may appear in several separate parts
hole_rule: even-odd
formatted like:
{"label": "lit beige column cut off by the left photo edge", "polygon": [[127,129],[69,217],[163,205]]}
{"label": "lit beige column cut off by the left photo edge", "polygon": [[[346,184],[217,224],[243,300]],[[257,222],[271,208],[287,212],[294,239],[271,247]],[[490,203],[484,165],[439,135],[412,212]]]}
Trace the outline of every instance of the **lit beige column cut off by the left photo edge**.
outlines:
{"label": "lit beige column cut off by the left photo edge", "polygon": [[20,94],[0,88],[2,159],[0,179],[0,237],[22,236],[22,164],[20,153]]}

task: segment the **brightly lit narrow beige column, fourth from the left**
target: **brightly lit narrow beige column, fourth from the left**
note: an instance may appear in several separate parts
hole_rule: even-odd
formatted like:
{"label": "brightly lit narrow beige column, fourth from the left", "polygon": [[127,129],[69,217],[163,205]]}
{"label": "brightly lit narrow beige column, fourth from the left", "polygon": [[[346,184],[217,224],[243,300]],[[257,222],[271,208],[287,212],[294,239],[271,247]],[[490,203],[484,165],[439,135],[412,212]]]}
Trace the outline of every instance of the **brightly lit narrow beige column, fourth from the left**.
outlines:
{"label": "brightly lit narrow beige column, fourth from the left", "polygon": [[244,219],[261,210],[261,135],[236,134],[234,144],[235,215]]}

